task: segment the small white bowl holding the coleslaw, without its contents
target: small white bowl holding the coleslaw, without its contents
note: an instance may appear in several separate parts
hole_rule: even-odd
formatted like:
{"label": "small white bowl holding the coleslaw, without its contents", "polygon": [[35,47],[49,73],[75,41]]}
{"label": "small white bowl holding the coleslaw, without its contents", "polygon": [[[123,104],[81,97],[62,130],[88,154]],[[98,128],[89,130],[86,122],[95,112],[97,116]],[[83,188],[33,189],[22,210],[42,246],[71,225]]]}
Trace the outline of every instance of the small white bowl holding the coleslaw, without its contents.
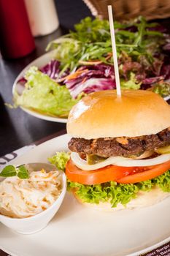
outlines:
{"label": "small white bowl holding the coleslaw, without its contents", "polygon": [[[43,164],[43,165],[50,165],[50,164]],[[62,190],[59,197],[55,200],[49,208],[45,211],[42,211],[39,214],[36,214],[32,217],[28,218],[11,218],[0,214],[0,222],[6,225],[7,227],[15,230],[21,234],[32,234],[42,230],[44,227],[47,226],[48,222],[54,217],[56,212],[61,206],[63,202],[63,198],[66,194],[66,175],[61,171],[62,175]]]}

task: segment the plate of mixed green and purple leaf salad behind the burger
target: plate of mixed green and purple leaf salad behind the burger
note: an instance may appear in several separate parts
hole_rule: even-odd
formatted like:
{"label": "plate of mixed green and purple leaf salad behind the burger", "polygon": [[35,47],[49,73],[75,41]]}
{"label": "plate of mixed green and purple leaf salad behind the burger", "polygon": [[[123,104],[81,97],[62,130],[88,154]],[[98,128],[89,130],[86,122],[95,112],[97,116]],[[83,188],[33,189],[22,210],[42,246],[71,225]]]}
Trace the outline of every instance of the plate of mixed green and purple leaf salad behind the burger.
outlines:
{"label": "plate of mixed green and purple leaf salad behind the burger", "polygon": [[[66,122],[69,111],[93,91],[115,89],[109,21],[85,18],[47,45],[48,53],[23,69],[13,86],[14,107]],[[170,35],[143,17],[115,21],[121,89],[170,95]]]}

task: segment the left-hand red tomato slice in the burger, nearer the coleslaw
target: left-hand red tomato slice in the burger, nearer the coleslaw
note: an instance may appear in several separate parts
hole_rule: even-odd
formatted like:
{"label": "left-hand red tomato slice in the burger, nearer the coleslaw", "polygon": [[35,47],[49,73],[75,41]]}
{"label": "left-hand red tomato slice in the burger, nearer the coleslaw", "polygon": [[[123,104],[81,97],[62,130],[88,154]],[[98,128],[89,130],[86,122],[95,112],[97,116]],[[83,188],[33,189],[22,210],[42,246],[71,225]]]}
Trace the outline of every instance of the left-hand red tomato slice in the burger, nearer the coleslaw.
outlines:
{"label": "left-hand red tomato slice in the burger, nearer the coleslaw", "polygon": [[74,165],[72,159],[66,163],[66,176],[70,181],[85,185],[101,184],[108,181],[116,181],[134,171],[134,167],[121,167],[108,165],[98,170],[81,170]]}

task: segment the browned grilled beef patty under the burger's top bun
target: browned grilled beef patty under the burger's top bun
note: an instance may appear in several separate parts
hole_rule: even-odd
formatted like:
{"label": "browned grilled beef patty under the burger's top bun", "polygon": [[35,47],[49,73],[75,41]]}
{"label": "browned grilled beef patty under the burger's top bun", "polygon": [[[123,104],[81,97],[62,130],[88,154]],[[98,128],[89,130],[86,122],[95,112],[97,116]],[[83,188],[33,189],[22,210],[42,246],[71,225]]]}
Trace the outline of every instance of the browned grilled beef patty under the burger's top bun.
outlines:
{"label": "browned grilled beef patty under the burger's top bun", "polygon": [[69,149],[80,154],[96,154],[100,157],[139,156],[144,151],[170,145],[170,127],[155,135],[139,137],[98,138],[85,140],[72,138]]}

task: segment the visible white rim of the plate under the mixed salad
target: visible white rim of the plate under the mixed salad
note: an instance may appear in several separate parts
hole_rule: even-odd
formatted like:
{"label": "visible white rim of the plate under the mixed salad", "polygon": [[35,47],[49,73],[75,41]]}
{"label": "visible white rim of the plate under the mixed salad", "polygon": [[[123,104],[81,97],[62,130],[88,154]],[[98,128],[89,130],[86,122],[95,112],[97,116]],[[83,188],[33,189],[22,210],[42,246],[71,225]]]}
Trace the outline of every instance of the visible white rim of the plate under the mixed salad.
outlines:
{"label": "visible white rim of the plate under the mixed salad", "polygon": [[[16,90],[19,92],[19,94],[22,94],[24,87],[23,87],[22,83],[18,82],[18,80],[20,80],[20,78],[24,77],[26,70],[28,70],[29,67],[31,67],[31,66],[43,67],[51,59],[53,59],[53,50],[48,53],[45,53],[44,55],[40,56],[39,58],[35,59],[30,64],[28,64],[28,66],[26,66],[25,69],[23,69],[23,71],[21,71],[20,74],[18,75],[18,77],[15,79],[13,87],[12,87],[12,93],[14,94],[14,91]],[[66,123],[66,121],[67,121],[67,118],[58,118],[58,117],[53,117],[53,116],[47,116],[45,114],[43,115],[41,113],[37,113],[34,110],[28,110],[28,108],[22,107],[22,110],[24,110],[26,113],[30,114],[31,116],[35,116],[37,118],[47,120],[47,121],[55,121],[58,123]]]}

